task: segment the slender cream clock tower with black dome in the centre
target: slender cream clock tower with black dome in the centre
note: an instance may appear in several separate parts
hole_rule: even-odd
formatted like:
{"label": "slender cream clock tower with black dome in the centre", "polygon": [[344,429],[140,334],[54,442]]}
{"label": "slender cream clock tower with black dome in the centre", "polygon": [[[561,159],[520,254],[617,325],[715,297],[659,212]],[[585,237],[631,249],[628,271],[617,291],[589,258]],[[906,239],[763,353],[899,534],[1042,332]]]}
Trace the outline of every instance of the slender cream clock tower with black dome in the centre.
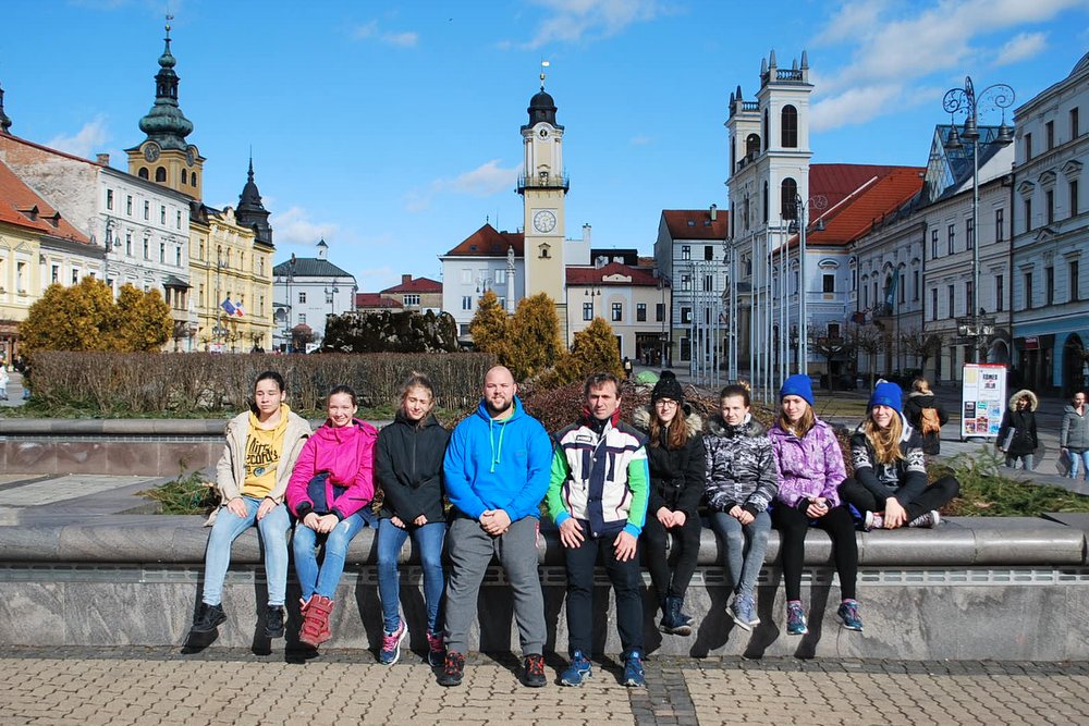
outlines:
{"label": "slender cream clock tower with black dome in the centre", "polygon": [[[547,65],[547,62],[544,63]],[[546,293],[566,320],[563,242],[567,175],[563,169],[563,126],[555,122],[555,101],[541,89],[529,100],[529,123],[522,127],[525,173],[518,194],[525,207],[526,296]]]}

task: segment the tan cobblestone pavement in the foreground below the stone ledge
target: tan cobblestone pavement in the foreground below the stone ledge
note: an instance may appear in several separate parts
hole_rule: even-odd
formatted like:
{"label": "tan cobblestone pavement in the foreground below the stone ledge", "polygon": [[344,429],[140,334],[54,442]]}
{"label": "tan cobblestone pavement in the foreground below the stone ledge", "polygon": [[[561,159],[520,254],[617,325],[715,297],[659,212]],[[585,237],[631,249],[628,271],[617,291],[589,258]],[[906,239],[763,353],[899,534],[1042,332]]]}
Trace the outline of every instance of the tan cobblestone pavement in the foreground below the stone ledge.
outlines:
{"label": "tan cobblestone pavement in the foreground below the stone ledge", "polygon": [[359,651],[303,663],[225,649],[9,649],[0,656],[0,723],[1089,723],[1089,663],[651,657],[646,689],[621,686],[609,661],[578,689],[524,688],[516,668],[511,656],[476,655],[465,682],[448,689],[412,654],[384,667]]}

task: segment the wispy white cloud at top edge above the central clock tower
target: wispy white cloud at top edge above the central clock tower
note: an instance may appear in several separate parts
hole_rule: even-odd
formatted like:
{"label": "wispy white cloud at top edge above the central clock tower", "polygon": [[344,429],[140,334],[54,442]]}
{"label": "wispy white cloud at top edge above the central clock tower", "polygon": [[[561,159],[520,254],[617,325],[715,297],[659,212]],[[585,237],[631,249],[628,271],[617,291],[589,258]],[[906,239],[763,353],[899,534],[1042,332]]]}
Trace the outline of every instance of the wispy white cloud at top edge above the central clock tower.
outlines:
{"label": "wispy white cloud at top edge above the central clock tower", "polygon": [[608,38],[634,23],[646,23],[666,11],[659,0],[533,0],[550,11],[527,48],[549,42]]}

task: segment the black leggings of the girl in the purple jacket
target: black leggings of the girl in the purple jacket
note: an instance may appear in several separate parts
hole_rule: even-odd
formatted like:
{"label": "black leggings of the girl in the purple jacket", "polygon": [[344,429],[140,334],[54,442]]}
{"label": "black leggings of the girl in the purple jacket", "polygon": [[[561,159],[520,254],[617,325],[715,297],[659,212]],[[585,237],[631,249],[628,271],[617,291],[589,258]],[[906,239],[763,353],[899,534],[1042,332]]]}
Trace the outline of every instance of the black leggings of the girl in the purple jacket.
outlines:
{"label": "black leggings of the girl in the purple jacket", "polygon": [[[832,555],[835,571],[840,575],[840,593],[844,600],[855,598],[855,580],[858,578],[858,542],[855,541],[855,521],[846,506],[832,508],[820,517],[812,527],[820,527],[832,538]],[[783,583],[787,600],[802,600],[802,564],[806,551],[806,532],[809,517],[782,502],[771,508],[771,522],[779,530],[783,553]]]}

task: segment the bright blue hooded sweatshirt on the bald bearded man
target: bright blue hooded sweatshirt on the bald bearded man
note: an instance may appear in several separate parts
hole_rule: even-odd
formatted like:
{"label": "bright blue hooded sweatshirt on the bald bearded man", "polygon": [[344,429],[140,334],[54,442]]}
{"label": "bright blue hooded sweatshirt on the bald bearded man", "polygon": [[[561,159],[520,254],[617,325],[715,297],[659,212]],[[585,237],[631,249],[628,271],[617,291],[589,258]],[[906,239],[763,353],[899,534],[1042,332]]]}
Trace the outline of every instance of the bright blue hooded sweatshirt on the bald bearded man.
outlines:
{"label": "bright blue hooded sweatshirt on the bald bearded man", "polygon": [[497,421],[481,401],[476,415],[454,428],[443,462],[446,495],[479,519],[503,509],[511,521],[539,517],[552,466],[552,439],[515,396],[514,413]]}

